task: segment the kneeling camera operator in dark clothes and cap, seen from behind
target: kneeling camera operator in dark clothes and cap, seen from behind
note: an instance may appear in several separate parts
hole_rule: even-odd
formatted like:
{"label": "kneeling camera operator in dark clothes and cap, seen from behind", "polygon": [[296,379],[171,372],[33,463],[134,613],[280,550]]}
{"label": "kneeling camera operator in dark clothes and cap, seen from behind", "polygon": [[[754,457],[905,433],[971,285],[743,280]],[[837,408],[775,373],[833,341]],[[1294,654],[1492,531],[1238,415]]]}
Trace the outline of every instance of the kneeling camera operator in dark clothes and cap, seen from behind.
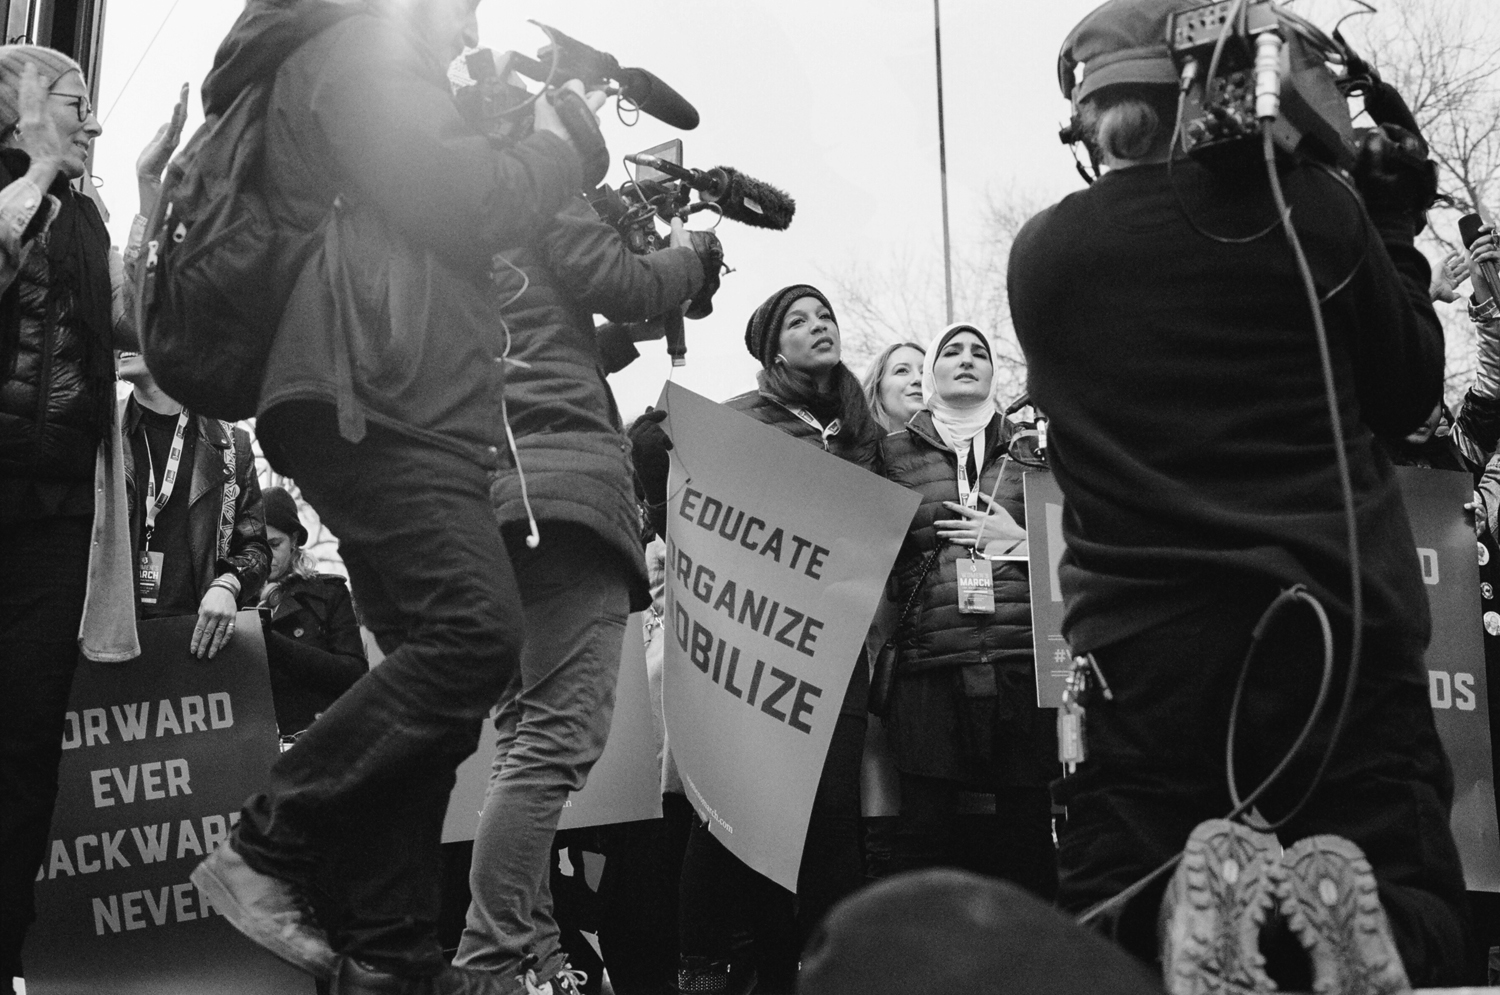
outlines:
{"label": "kneeling camera operator in dark clothes and cap, seen from behind", "polygon": [[[1318,990],[1353,990],[1338,977],[1359,971],[1378,980],[1371,990],[1404,990],[1407,975],[1450,984],[1466,942],[1452,774],[1422,665],[1426,594],[1376,444],[1377,434],[1420,426],[1442,393],[1443,336],[1413,248],[1431,204],[1425,146],[1374,131],[1356,176],[1364,206],[1323,170],[1281,168],[1318,288],[1336,290],[1323,314],[1364,584],[1360,669],[1329,753],[1350,672],[1352,551],[1318,344],[1280,225],[1250,237],[1278,216],[1264,173],[1168,165],[1178,74],[1162,39],[1168,15],[1191,6],[1113,0],[1070,35],[1064,89],[1108,171],[1034,218],[1010,263],[1030,396],[1052,419],[1052,465],[1068,500],[1065,635],[1112,689],[1107,698],[1095,681],[1083,695],[1088,756],[1054,786],[1070,816],[1059,902],[1082,911],[1110,899],[1186,843],[1161,911],[1172,990],[1206,990],[1192,986],[1233,969],[1262,977],[1256,930],[1236,941],[1234,923],[1194,905],[1212,887],[1248,914],[1275,918],[1272,902],[1282,917],[1305,912],[1294,933]],[[1281,858],[1266,833],[1204,821],[1233,807],[1224,735],[1236,680],[1252,629],[1292,585],[1330,617],[1336,662],[1328,710],[1256,806],[1269,819],[1292,816],[1278,828]],[[1239,714],[1240,791],[1287,753],[1322,672],[1322,632],[1300,599],[1263,635]],[[1244,875],[1220,873],[1221,855],[1246,851]],[[1209,870],[1192,878],[1203,861]],[[1272,888],[1274,878],[1284,882]],[[1308,903],[1320,893],[1338,912]],[[1118,920],[1120,941],[1148,959],[1161,894],[1158,878]],[[1222,938],[1228,960],[1209,963],[1194,932]],[[1266,953],[1306,986],[1296,941],[1272,933]]]}

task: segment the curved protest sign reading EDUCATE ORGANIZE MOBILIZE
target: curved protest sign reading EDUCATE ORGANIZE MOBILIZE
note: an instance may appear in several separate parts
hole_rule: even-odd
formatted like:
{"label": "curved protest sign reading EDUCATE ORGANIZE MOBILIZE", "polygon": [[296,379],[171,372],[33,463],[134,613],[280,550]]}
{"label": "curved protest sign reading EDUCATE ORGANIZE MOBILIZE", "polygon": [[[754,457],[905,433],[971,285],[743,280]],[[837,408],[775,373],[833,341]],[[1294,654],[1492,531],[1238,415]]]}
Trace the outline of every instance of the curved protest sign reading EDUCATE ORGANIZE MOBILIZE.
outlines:
{"label": "curved protest sign reading EDUCATE ORGANIZE MOBILIZE", "polygon": [[918,495],[668,384],[666,726],[710,831],[796,888],[824,756]]}

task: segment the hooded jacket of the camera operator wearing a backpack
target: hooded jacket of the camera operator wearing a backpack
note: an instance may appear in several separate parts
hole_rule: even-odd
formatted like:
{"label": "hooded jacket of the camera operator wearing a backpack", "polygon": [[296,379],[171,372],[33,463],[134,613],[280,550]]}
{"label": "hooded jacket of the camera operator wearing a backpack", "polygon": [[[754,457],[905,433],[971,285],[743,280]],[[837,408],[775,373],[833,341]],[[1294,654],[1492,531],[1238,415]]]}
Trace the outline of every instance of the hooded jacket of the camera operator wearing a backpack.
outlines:
{"label": "hooded jacket of the camera operator wearing a backpack", "polygon": [[[290,54],[286,54],[290,51]],[[534,243],[579,189],[573,147],[500,150],[454,108],[446,57],[392,5],[246,8],[204,84],[208,108],[274,68],[264,182],[273,218],[312,239],[258,410],[339,410],[494,467],[504,435],[492,257]]]}

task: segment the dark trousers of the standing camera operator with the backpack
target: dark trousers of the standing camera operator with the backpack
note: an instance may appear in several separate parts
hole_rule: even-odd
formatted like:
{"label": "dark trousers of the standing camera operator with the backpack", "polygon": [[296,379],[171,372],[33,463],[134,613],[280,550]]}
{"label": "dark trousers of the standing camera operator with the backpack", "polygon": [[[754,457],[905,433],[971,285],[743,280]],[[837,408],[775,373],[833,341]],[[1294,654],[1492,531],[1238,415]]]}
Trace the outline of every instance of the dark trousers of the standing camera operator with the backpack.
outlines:
{"label": "dark trousers of the standing camera operator with the backpack", "polygon": [[234,846],[256,870],[322,891],[340,953],[432,974],[446,963],[442,818],[453,771],[516,669],[516,578],[483,468],[375,425],[351,444],[330,407],[286,408],[261,419],[261,444],[339,537],[387,656],[282,753]]}

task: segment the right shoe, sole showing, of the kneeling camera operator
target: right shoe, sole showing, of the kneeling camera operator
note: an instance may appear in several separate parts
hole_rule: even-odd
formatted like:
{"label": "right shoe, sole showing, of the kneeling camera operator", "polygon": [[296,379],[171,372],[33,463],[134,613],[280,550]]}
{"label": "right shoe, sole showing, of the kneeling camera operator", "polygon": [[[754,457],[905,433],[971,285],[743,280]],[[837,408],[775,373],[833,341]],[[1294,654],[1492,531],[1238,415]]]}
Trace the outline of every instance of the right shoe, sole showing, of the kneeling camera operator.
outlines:
{"label": "right shoe, sole showing, of the kneeling camera operator", "polygon": [[1376,875],[1359,846],[1342,836],[1310,836],[1288,848],[1281,863],[1281,915],[1312,960],[1317,995],[1412,990]]}

